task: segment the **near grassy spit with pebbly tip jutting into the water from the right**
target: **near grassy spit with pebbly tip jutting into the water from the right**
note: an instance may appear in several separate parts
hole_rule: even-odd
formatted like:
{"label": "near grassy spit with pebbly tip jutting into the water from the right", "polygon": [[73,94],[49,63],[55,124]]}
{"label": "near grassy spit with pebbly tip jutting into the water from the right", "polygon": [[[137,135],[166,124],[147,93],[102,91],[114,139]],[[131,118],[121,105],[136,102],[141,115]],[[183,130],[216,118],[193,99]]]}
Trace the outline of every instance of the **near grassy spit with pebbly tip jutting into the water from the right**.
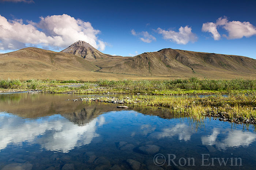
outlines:
{"label": "near grassy spit with pebbly tip jutting into the water from the right", "polygon": [[205,98],[133,95],[124,97],[80,98],[82,101],[119,103],[129,107],[151,107],[168,110],[177,117],[188,116],[202,120],[206,116],[221,121],[256,124],[256,93],[230,94]]}

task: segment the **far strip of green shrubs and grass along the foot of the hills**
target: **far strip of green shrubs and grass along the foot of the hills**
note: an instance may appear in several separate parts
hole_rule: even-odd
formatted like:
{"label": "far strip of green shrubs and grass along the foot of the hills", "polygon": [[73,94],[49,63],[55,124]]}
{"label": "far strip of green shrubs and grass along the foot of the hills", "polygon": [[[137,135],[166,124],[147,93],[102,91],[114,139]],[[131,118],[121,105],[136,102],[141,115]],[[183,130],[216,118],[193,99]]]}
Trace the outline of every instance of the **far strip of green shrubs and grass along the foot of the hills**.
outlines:
{"label": "far strip of green shrubs and grass along the foot of the hills", "polygon": [[[74,87],[73,85],[77,85]],[[83,82],[78,80],[0,80],[0,91],[42,90],[47,93],[76,94],[153,94],[153,95],[186,95],[186,94],[226,94],[234,91],[245,93],[256,90],[256,79],[209,80],[209,79],[176,79],[176,80],[104,80]]]}

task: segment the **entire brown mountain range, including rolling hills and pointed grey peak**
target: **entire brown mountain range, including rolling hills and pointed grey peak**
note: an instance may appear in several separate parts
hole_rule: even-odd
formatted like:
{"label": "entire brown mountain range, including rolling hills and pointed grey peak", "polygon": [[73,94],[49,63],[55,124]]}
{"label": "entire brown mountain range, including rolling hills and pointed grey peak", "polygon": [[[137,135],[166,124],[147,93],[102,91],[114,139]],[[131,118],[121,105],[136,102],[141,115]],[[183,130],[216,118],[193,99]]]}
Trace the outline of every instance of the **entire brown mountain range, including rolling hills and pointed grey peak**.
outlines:
{"label": "entire brown mountain range, including rolling hills and pointed grey peak", "polygon": [[112,56],[77,41],[61,52],[29,47],[0,54],[0,71],[4,79],[256,78],[256,60],[171,48],[134,57]]}

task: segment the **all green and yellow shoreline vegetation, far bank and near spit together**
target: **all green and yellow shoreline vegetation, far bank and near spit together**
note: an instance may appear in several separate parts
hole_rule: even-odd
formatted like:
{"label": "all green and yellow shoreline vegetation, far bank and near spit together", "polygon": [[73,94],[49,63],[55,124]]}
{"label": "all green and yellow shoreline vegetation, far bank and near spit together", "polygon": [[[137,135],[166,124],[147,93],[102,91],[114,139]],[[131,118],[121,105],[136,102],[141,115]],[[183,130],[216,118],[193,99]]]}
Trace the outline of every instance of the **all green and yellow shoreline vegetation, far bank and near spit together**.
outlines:
{"label": "all green and yellow shoreline vegetation, far bank and near spit together", "polygon": [[[175,116],[197,120],[206,116],[234,123],[256,124],[256,79],[209,80],[0,80],[0,92],[37,90],[65,94],[129,94],[123,97],[79,98],[127,104],[132,107],[158,107]],[[140,95],[144,94],[144,95]],[[207,94],[200,98],[197,95]],[[226,96],[223,96],[226,94]],[[173,97],[172,95],[183,95]],[[193,97],[187,95],[195,95]]]}

